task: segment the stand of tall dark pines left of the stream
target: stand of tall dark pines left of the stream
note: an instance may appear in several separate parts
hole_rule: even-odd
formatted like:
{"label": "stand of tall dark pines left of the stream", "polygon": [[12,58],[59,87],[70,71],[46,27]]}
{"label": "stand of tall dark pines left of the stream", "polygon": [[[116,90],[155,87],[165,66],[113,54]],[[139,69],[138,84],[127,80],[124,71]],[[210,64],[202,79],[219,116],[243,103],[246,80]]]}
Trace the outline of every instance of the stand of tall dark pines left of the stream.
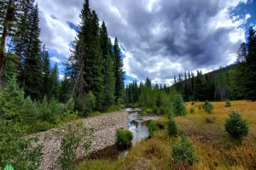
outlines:
{"label": "stand of tall dark pines left of the stream", "polygon": [[39,39],[38,4],[3,0],[0,8],[0,91],[16,77],[25,98],[55,98],[62,103],[73,98],[82,115],[122,102],[125,88],[119,42],[115,37],[112,44],[105,22],[99,25],[89,0],[84,1],[62,81],[58,65],[50,65],[48,50]]}

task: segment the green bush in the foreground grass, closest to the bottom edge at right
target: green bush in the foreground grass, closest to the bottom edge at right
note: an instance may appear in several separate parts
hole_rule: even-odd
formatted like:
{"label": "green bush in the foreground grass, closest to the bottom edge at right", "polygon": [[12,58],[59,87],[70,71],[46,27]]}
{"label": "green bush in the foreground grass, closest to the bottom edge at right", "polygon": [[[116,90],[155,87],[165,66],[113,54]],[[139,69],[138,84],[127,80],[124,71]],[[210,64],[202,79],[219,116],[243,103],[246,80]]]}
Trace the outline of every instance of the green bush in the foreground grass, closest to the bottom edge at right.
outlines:
{"label": "green bush in the foreground grass, closest to the bottom edge at right", "polygon": [[179,144],[172,145],[172,159],[176,163],[188,163],[190,166],[199,161],[194,144],[184,135]]}

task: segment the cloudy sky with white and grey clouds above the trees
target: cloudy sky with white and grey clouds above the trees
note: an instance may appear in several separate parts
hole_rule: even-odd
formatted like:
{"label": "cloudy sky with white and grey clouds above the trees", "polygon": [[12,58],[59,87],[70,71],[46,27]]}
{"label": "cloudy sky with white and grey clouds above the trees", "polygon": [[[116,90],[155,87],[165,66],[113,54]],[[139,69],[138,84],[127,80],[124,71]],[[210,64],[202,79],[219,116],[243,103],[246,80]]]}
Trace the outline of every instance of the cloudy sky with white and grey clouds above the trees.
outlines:
{"label": "cloudy sky with white and grey clouds above the trees", "polygon": [[[62,77],[84,0],[37,3],[41,41]],[[256,26],[256,0],[90,0],[90,8],[105,20],[109,36],[119,38],[125,83],[150,77],[171,85],[181,71],[230,65],[248,28]]]}

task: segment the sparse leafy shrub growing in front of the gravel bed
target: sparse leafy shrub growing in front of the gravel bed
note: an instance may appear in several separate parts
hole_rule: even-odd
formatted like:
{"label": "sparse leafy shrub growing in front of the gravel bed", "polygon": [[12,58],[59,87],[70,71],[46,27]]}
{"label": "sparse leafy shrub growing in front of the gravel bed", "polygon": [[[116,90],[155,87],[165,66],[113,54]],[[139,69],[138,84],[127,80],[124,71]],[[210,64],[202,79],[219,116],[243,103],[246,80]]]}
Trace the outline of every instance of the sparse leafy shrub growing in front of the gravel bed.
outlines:
{"label": "sparse leafy shrub growing in front of the gravel bed", "polygon": [[92,132],[84,127],[83,122],[69,123],[59,132],[61,138],[61,156],[57,163],[63,169],[73,170],[76,156],[86,156],[90,150]]}

